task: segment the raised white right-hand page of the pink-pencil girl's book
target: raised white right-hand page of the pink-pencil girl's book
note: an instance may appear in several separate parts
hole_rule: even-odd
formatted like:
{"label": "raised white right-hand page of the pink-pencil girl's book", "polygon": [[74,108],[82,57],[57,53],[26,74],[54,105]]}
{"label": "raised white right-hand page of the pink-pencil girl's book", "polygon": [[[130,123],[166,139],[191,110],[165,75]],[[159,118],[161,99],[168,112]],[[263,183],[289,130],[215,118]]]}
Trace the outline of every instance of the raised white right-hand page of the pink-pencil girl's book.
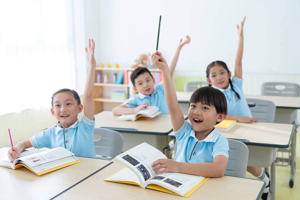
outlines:
{"label": "raised white right-hand page of the pink-pencil girl's book", "polygon": [[48,162],[51,162],[54,160],[58,160],[58,159],[73,156],[73,155],[75,155],[75,154],[73,154],[71,151],[69,151],[63,147],[56,147],[53,149],[49,149],[49,150],[34,154],[34,156],[28,155],[28,156],[21,157],[18,160],[22,160],[24,164],[26,164],[27,166],[32,168],[34,166],[38,166],[38,165],[41,165],[44,163],[48,163]]}

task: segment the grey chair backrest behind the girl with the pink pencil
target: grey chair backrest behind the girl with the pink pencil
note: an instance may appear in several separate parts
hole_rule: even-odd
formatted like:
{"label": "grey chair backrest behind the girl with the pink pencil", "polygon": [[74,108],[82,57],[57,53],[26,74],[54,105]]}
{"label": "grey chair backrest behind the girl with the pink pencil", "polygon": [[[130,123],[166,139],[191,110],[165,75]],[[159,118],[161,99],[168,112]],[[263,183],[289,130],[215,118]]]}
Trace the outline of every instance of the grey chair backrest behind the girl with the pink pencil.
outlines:
{"label": "grey chair backrest behind the girl with the pink pencil", "polygon": [[94,145],[99,159],[112,160],[122,153],[123,136],[121,133],[105,128],[94,129]]}

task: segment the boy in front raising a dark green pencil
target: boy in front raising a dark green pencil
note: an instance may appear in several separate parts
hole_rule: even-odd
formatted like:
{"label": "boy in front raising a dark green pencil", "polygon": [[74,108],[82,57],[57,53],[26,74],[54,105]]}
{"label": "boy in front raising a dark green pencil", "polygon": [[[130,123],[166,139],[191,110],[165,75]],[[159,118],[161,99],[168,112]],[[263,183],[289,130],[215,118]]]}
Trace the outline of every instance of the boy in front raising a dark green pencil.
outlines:
{"label": "boy in front raising a dark green pencil", "polygon": [[164,79],[166,102],[178,145],[175,159],[158,159],[152,164],[153,170],[164,168],[159,173],[222,177],[227,166],[228,140],[214,126],[226,116],[224,94],[212,87],[196,90],[189,102],[189,123],[184,120],[168,64],[160,52],[152,55],[152,64],[161,70]]}

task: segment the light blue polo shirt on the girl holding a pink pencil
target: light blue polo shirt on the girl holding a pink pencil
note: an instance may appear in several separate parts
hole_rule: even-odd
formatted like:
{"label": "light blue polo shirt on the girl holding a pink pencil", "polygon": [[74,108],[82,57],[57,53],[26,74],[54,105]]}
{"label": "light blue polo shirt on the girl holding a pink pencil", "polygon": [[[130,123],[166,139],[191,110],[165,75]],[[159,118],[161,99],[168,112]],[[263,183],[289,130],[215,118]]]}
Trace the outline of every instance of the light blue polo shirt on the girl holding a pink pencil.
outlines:
{"label": "light blue polo shirt on the girl holding a pink pencil", "polygon": [[95,118],[91,121],[83,115],[81,121],[77,119],[69,128],[64,129],[59,123],[56,127],[35,134],[29,140],[34,148],[63,147],[75,156],[96,158],[94,127]]}

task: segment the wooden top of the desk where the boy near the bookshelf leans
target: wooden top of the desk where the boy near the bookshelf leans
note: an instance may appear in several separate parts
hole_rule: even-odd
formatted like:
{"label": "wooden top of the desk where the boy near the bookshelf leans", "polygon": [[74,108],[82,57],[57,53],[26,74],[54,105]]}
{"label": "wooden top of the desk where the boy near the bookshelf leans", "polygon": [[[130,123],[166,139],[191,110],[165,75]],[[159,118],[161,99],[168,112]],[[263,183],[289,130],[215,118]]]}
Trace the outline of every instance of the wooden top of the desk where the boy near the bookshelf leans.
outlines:
{"label": "wooden top of the desk where the boy near the bookshelf leans", "polygon": [[116,121],[118,117],[113,115],[112,111],[100,112],[95,115],[95,127],[111,127],[112,130],[121,133],[152,135],[168,135],[173,130],[170,115],[167,114],[160,114],[154,118],[141,117],[136,121]]}

